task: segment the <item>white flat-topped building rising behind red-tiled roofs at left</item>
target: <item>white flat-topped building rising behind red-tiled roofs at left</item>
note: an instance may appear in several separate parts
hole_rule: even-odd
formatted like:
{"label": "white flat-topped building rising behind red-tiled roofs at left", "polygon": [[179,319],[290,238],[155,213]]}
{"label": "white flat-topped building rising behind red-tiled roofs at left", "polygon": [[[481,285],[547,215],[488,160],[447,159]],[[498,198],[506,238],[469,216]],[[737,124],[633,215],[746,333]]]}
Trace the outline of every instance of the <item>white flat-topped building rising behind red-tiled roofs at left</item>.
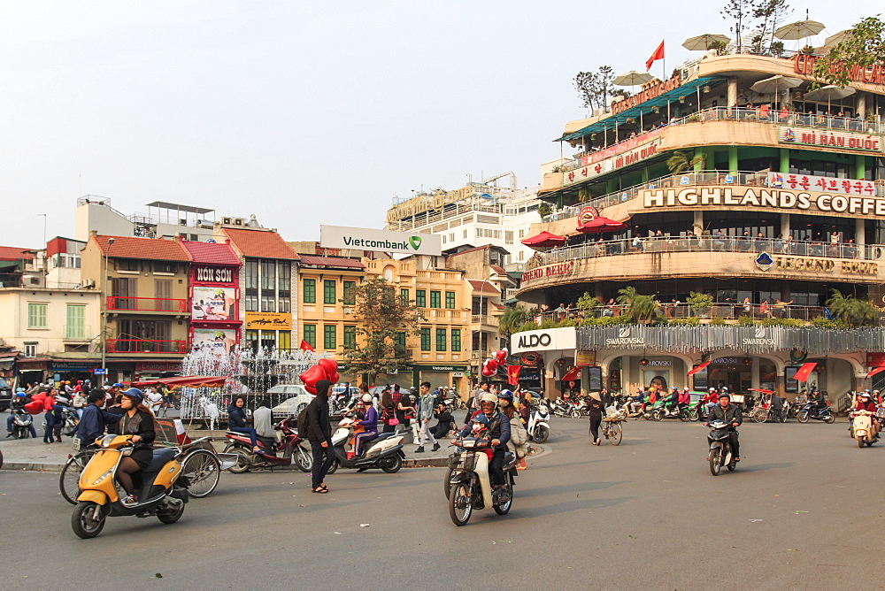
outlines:
{"label": "white flat-topped building rising behind red-tiled roofs at left", "polygon": [[[108,236],[136,236],[204,242],[212,238],[215,210],[194,205],[154,201],[146,213],[125,214],[111,206],[111,199],[96,195],[77,199],[74,211],[77,240],[86,242],[90,232]],[[232,226],[246,226],[242,218],[225,218]]]}

